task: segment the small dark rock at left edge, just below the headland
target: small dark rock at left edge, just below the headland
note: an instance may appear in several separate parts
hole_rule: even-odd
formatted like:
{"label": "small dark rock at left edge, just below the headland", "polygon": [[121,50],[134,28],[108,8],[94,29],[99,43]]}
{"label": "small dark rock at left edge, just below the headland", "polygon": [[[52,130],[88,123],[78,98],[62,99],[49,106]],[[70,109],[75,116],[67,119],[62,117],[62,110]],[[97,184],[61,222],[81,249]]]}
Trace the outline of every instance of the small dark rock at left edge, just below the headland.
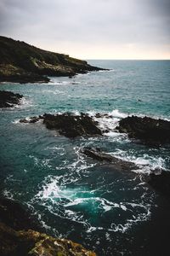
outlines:
{"label": "small dark rock at left edge, just below the headland", "polygon": [[20,104],[22,97],[22,95],[11,91],[0,90],[0,108],[12,108],[14,105]]}

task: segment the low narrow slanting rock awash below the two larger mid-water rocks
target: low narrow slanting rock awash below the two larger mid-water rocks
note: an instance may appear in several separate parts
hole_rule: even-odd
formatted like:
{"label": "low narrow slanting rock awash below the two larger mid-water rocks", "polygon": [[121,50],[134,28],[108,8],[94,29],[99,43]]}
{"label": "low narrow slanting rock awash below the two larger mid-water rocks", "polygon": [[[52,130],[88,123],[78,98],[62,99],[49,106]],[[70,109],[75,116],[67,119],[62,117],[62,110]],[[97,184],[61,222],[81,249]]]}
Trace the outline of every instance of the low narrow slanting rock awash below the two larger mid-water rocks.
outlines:
{"label": "low narrow slanting rock awash below the two larger mid-water rocks", "polygon": [[111,154],[102,152],[99,148],[83,148],[82,154],[86,154],[88,157],[94,160],[105,161],[111,163],[111,166],[117,171],[132,171],[138,169],[132,162],[117,159]]}

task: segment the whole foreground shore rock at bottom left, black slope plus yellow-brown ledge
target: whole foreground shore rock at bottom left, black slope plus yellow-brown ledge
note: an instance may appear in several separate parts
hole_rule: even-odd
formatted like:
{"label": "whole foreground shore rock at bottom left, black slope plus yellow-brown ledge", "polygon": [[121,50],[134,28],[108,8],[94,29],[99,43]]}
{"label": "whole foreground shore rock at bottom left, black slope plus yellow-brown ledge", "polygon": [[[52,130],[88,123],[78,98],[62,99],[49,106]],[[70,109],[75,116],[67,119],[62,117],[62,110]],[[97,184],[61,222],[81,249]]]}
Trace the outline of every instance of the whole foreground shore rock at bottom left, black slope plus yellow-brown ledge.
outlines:
{"label": "whole foreground shore rock at bottom left, black slope plus yellow-brown ledge", "polygon": [[31,230],[37,227],[19,203],[0,198],[1,256],[95,256],[82,245]]}

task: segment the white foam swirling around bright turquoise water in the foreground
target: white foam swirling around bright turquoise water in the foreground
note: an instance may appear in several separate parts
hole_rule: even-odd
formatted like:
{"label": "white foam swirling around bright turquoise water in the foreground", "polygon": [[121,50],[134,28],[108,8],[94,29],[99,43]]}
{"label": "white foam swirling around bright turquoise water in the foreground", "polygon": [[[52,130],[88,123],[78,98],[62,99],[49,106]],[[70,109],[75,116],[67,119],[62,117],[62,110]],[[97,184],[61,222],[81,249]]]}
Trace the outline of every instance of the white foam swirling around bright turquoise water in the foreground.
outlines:
{"label": "white foam swirling around bright turquoise water in the foreground", "polygon": [[[38,204],[47,208],[49,212],[70,220],[75,224],[82,224],[83,229],[87,233],[96,230],[104,230],[107,232],[126,232],[133,224],[146,221],[150,217],[150,203],[144,202],[144,196],[140,202],[123,201],[114,202],[100,197],[95,190],[88,190],[85,187],[69,188],[62,183],[63,176],[48,176],[45,178],[42,189],[33,198]],[[118,212],[117,210],[118,209]],[[88,218],[87,218],[88,212]],[[93,225],[91,218],[94,218],[96,212],[98,218],[103,218],[107,212],[115,215],[115,221],[108,219],[107,226]],[[98,213],[100,212],[100,213]],[[127,215],[121,212],[127,212]],[[117,224],[118,215],[122,214],[122,223]],[[119,218],[118,218],[119,219]],[[100,222],[101,224],[101,222]]]}

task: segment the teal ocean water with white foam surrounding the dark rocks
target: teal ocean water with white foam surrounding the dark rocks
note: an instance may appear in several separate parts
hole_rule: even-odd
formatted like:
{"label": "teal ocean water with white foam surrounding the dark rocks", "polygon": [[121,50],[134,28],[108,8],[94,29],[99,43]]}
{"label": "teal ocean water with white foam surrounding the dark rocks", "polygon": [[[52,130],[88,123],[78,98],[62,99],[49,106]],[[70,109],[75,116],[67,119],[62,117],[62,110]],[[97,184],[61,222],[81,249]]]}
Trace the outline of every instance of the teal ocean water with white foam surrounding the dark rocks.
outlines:
{"label": "teal ocean water with white foam surrounding the dark rocks", "polygon": [[[25,98],[0,110],[0,189],[31,207],[43,229],[82,243],[99,256],[168,255],[169,201],[145,182],[150,170],[170,170],[170,147],[149,148],[114,132],[127,115],[170,120],[170,61],[88,61],[110,68],[48,84],[0,84]],[[110,113],[104,137],[69,139],[42,123],[19,120],[42,113]],[[95,119],[95,118],[94,118]],[[98,147],[134,162],[134,172],[81,154]]]}

